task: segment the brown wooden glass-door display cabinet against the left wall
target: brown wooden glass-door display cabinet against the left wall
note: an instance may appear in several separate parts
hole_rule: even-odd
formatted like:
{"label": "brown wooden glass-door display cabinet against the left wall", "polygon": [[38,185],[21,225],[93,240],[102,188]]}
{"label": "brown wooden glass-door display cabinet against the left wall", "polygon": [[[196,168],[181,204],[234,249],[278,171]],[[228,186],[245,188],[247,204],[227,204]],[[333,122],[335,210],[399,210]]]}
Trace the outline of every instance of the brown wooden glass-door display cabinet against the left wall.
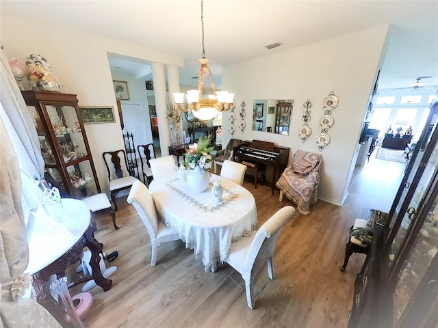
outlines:
{"label": "brown wooden glass-door display cabinet against the left wall", "polygon": [[22,91],[38,132],[46,180],[62,197],[101,193],[75,94]]}

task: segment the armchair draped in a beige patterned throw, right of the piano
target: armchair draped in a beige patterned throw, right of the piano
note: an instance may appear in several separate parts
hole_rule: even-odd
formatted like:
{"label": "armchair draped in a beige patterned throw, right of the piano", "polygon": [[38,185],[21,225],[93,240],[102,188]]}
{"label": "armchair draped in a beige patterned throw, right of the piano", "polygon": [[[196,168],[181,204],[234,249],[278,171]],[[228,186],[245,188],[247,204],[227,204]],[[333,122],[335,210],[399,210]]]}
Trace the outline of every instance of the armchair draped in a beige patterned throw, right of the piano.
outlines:
{"label": "armchair draped in a beige patterned throw, right of the piano", "polygon": [[292,165],[286,167],[276,182],[276,187],[280,189],[280,202],[283,201],[284,193],[298,205],[300,213],[309,214],[310,204],[318,200],[321,161],[320,154],[297,150]]}

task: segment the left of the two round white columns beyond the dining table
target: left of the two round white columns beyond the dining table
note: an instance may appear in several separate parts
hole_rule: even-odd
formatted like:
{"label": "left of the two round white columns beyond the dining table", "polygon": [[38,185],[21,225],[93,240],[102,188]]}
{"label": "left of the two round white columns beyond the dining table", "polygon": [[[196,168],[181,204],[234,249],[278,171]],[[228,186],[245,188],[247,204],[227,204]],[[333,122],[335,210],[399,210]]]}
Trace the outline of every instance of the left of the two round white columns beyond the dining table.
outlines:
{"label": "left of the two round white columns beyond the dining table", "polygon": [[162,156],[167,156],[170,146],[170,129],[166,113],[166,77],[163,64],[152,63],[152,80],[158,118],[159,145]]}

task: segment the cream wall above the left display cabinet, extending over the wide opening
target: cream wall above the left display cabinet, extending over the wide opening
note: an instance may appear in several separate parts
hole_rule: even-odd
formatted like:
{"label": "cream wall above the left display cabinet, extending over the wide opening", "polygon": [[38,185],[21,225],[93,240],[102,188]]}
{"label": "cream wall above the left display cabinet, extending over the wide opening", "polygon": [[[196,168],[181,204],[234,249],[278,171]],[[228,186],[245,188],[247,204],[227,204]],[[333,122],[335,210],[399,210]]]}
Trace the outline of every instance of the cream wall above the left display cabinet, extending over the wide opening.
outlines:
{"label": "cream wall above the left display cabinet, extending over the wide opening", "polygon": [[[44,18],[41,18],[44,19]],[[183,67],[183,59],[118,40],[47,25],[42,20],[25,20],[1,15],[1,43],[9,58],[23,66],[31,53],[46,57],[61,85],[77,94],[79,105],[109,105],[117,109],[107,53],[118,53],[146,61]],[[87,124],[86,133],[101,189],[109,193],[102,152],[124,148],[122,131],[116,123]]]}

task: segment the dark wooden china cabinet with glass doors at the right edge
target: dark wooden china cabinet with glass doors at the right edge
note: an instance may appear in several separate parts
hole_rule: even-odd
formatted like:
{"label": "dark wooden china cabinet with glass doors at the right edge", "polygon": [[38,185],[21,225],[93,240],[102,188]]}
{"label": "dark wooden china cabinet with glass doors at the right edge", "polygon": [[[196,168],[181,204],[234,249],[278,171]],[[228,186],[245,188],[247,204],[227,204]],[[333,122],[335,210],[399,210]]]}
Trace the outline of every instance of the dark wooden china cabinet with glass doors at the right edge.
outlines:
{"label": "dark wooden china cabinet with glass doors at the right edge", "polygon": [[385,226],[374,225],[348,327],[438,327],[438,97]]}

